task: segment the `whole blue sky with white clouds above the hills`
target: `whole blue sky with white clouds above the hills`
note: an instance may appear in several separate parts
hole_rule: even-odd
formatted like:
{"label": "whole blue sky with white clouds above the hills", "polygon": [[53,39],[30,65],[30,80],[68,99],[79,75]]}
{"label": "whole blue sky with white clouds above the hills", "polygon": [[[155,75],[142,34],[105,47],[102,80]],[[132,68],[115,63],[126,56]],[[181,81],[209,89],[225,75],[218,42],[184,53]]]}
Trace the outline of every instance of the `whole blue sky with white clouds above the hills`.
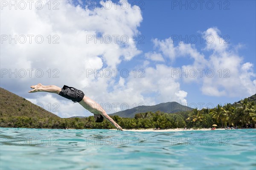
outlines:
{"label": "whole blue sky with white clouds above the hills", "polygon": [[[1,87],[44,108],[58,103],[58,112],[52,113],[61,117],[90,113],[58,95],[28,94],[29,86],[39,82],[74,86],[103,106],[110,103],[108,113],[125,108],[120,105],[132,108],[172,101],[211,108],[256,93],[255,1],[204,1],[202,6],[198,1],[102,1],[103,5],[112,4],[109,9],[92,5],[99,2],[63,0],[52,4],[51,9],[44,2],[41,10],[3,6],[1,35],[41,35],[45,41],[1,43]],[[58,10],[52,10],[55,5]],[[57,35],[59,43],[45,43],[49,35],[51,40]],[[88,41],[88,36],[94,35],[109,35],[112,40]],[[113,42],[113,35],[119,36],[118,42]],[[128,43],[120,40],[124,35]],[[3,74],[15,69],[41,69],[44,76]],[[88,74],[101,69],[110,70],[112,77]],[[115,69],[119,70],[113,77]],[[120,76],[120,71],[125,74],[126,70],[129,76]],[[180,76],[181,71],[187,74]],[[195,71],[197,76],[193,77]],[[54,73],[58,78],[53,77]],[[119,104],[115,108],[116,102]]]}

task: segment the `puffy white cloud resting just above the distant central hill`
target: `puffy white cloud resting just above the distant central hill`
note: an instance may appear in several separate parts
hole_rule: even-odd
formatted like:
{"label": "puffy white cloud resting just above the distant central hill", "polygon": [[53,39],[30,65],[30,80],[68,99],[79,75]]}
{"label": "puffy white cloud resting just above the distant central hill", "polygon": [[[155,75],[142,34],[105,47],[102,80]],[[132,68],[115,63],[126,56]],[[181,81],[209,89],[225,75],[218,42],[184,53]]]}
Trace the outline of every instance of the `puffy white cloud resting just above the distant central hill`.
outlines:
{"label": "puffy white cloud resting just above the distant central hill", "polygon": [[[172,77],[169,74],[172,67],[164,64],[156,65],[156,68],[145,68],[144,77],[129,77],[125,85],[120,88],[119,85],[114,87],[109,94],[112,101],[128,103],[129,106],[143,103],[143,105],[156,105],[161,102],[176,101],[186,103],[186,92],[180,90],[178,77]],[[120,98],[119,96],[123,96]]]}

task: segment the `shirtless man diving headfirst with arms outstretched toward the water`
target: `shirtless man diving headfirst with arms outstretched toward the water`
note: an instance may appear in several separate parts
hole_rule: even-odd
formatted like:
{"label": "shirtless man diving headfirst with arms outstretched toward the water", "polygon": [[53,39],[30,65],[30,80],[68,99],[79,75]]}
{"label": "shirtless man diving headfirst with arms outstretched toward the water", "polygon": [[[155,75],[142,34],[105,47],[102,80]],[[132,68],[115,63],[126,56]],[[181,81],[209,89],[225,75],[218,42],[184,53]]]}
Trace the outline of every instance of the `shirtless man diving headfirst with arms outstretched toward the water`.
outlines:
{"label": "shirtless man diving headfirst with arms outstretched toward the water", "polygon": [[76,88],[69,87],[67,85],[64,85],[63,88],[59,88],[55,85],[32,85],[30,88],[33,88],[33,90],[29,91],[29,93],[35,93],[35,92],[48,92],[48,93],[55,93],[59,94],[62,97],[65,97],[67,99],[72,100],[74,103],[78,102],[80,105],[82,105],[85,109],[90,111],[94,114],[94,119],[96,122],[103,122],[104,118],[108,120],[114,127],[116,127],[117,130],[122,130],[122,127],[119,126],[108,114],[106,111],[103,110],[103,108],[96,103],[94,100],[90,99],[89,97],[85,96],[84,93],[80,90],[77,90]]}

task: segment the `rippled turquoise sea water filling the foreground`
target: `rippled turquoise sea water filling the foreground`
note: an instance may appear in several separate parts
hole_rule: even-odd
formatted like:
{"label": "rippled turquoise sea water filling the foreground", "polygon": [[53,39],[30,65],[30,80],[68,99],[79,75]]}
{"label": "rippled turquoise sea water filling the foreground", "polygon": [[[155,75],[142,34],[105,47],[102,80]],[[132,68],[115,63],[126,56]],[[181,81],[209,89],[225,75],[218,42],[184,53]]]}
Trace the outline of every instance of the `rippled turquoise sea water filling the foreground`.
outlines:
{"label": "rippled turquoise sea water filling the foreground", "polygon": [[256,130],[0,128],[0,170],[255,170]]}

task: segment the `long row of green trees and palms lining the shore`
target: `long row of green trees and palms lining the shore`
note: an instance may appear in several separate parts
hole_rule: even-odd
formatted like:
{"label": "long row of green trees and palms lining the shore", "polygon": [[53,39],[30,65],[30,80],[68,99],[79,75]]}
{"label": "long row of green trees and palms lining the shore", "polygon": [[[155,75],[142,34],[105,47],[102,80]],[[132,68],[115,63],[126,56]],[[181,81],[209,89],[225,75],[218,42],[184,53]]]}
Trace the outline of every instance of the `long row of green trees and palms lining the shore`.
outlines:
{"label": "long row of green trees and palms lining the shore", "polygon": [[[125,129],[140,128],[209,128],[213,124],[218,127],[256,128],[256,104],[247,99],[241,100],[236,105],[230,103],[215,108],[197,108],[192,111],[177,113],[137,113],[134,118],[111,118]],[[0,118],[0,127],[24,127],[24,128],[52,128],[52,129],[112,129],[108,121],[96,123],[93,116],[85,118],[59,118],[59,117],[27,117],[27,116],[3,116]]]}

